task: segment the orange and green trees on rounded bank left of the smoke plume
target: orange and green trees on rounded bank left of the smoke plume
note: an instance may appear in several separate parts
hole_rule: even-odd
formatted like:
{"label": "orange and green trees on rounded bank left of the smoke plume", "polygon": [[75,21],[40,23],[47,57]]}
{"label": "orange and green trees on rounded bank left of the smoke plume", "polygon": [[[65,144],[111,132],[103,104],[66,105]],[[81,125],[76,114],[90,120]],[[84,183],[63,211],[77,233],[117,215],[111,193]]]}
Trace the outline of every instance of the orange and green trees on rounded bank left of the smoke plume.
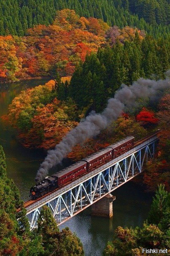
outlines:
{"label": "orange and green trees on rounded bank left of the smoke plume", "polygon": [[52,148],[77,125],[69,114],[69,108],[74,112],[76,106],[51,99],[54,86],[55,81],[51,80],[44,86],[22,91],[9,106],[8,122],[19,130],[25,147]]}

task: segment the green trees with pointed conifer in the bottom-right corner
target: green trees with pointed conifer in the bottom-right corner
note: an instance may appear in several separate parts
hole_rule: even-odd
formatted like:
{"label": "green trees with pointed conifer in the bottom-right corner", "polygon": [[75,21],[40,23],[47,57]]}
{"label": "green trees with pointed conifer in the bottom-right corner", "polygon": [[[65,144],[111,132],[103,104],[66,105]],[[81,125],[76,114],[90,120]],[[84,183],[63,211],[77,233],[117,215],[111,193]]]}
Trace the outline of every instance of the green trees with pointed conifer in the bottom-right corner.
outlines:
{"label": "green trees with pointed conifer in the bottom-right corner", "polygon": [[[160,184],[153,198],[148,219],[144,221],[143,226],[116,228],[113,240],[108,242],[103,256],[140,256],[143,254],[142,248],[169,248],[169,197],[170,193],[167,193],[165,187]],[[163,256],[165,253],[156,255]]]}

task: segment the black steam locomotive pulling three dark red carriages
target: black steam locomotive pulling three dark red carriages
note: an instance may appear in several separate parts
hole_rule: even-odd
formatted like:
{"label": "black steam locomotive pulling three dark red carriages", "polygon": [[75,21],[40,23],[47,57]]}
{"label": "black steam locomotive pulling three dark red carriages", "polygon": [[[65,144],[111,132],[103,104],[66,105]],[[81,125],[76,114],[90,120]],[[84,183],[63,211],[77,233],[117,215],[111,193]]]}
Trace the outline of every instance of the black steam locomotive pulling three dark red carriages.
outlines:
{"label": "black steam locomotive pulling three dark red carriages", "polygon": [[128,136],[119,142],[109,145],[96,153],[70,165],[69,167],[54,173],[50,177],[45,178],[38,185],[31,187],[30,198],[37,199],[54,189],[60,188],[71,181],[80,178],[81,175],[85,175],[103,164],[111,161],[117,156],[125,153],[134,146],[134,137]]}

